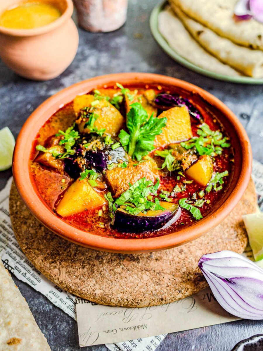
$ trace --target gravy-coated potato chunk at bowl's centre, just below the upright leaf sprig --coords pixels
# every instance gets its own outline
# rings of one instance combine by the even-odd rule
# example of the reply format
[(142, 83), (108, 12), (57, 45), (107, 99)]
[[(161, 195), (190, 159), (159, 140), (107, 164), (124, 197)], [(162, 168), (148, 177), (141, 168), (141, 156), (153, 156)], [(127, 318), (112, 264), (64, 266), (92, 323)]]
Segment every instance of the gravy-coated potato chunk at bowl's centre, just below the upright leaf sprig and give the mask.
[(106, 179), (115, 197), (119, 197), (124, 191), (129, 189), (129, 183), (134, 184), (135, 181), (145, 177), (146, 180), (152, 180), (155, 183), (159, 178), (159, 171), (153, 159), (146, 160), (137, 166), (132, 164), (126, 168), (114, 168), (106, 171)]

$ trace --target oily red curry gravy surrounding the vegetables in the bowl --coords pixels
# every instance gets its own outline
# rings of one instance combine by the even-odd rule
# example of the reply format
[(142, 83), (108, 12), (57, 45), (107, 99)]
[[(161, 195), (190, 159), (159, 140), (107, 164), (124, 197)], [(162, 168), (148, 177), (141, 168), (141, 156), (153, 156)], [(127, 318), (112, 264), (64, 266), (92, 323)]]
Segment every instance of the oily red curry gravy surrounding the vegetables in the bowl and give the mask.
[[(137, 92), (137, 95), (143, 94), (145, 90), (147, 90), (148, 86), (140, 87)], [(153, 87), (154, 93), (157, 95), (160, 92), (170, 93), (165, 88), (162, 87)], [(134, 92), (135, 87), (129, 87), (130, 93)], [(113, 93), (120, 94), (120, 89), (116, 86), (113, 89), (109, 89), (109, 95), (112, 96)], [(94, 94), (91, 92), (90, 94)], [(103, 89), (103, 94), (107, 94), (107, 89)], [(121, 95), (121, 94), (120, 94)], [(212, 113), (209, 107), (198, 100), (196, 102), (194, 97), (184, 96), (182, 92), (180, 92), (180, 96), (188, 98), (190, 103), (193, 104), (195, 108), (200, 112), (202, 116), (202, 123), (205, 123), (209, 126), (210, 130), (216, 131), (220, 130), (223, 133), (224, 137), (227, 137), (227, 132), (224, 130), (223, 126), (217, 120), (217, 116)], [(126, 117), (126, 109), (125, 109), (125, 97), (123, 96), (122, 103), (119, 106), (120, 112), (123, 117)], [(155, 105), (156, 106), (156, 105)], [(162, 109), (157, 109), (157, 114), (161, 114)], [(72, 177), (65, 172), (65, 170), (57, 170), (53, 167), (49, 167), (43, 163), (38, 162), (38, 154), (41, 154), (41, 151), (35, 149), (36, 145), (47, 145), (47, 140), (52, 138), (59, 130), (66, 131), (68, 127), (70, 127), (73, 122), (76, 120), (76, 115), (74, 112), (73, 102), (63, 106), (59, 111), (54, 113), (49, 120), (41, 127), (39, 134), (36, 136), (35, 143), (32, 147), (32, 157), (29, 161), (29, 168), (32, 176), (32, 181), (38, 191), (39, 197), (43, 200), (47, 207), (50, 208), (50, 211), (54, 212), (55, 216), (60, 217), (63, 221), (69, 223), (72, 226), (75, 226), (79, 229), (93, 232), (94, 234), (107, 236), (107, 237), (115, 237), (115, 238), (147, 238), (147, 237), (156, 237), (165, 234), (169, 234), (171, 232), (176, 232), (182, 228), (189, 227), (194, 225), (198, 220), (193, 217), (193, 215), (189, 212), (189, 210), (185, 208), (181, 208), (181, 215), (175, 221), (175, 223), (166, 227), (165, 229), (159, 230), (150, 230), (147, 232), (120, 232), (117, 231), (110, 225), (112, 219), (110, 218), (110, 214), (108, 211), (108, 204), (104, 204), (98, 208), (84, 210), (80, 213), (75, 213), (70, 216), (61, 217), (58, 213), (56, 213), (56, 208), (61, 198), (63, 198), (63, 194), (67, 191), (67, 188), (75, 181)], [(191, 118), (191, 130), (193, 133), (193, 137), (199, 137), (197, 131), (199, 129), (200, 124), (193, 122)], [(127, 130), (125, 125), (124, 129)], [(77, 129), (77, 125), (76, 125)], [(118, 137), (115, 137), (118, 141)], [(169, 146), (169, 145), (168, 145)], [(159, 147), (158, 150), (164, 150), (168, 146)], [(158, 168), (161, 168), (162, 163), (164, 161), (163, 158), (156, 156), (155, 151), (149, 153), (149, 157), (152, 157), (156, 162)], [(198, 155), (200, 157), (200, 155)], [(169, 201), (171, 203), (177, 204), (178, 201), (182, 198), (187, 198), (194, 205), (194, 201), (198, 199), (204, 200), (204, 203), (199, 210), (202, 214), (202, 217), (207, 216), (211, 211), (214, 210), (215, 207), (218, 207), (218, 203), (223, 196), (223, 193), (227, 191), (228, 185), (231, 181), (232, 170), (234, 167), (234, 157), (232, 147), (223, 147), (222, 153), (220, 155), (216, 155), (215, 157), (211, 157), (213, 161), (213, 174), (216, 172), (221, 173), (224, 171), (228, 171), (229, 175), (224, 177), (223, 187), (221, 190), (215, 191), (212, 189), (210, 192), (206, 192), (206, 186), (202, 186), (197, 183), (195, 180), (189, 178), (187, 174), (182, 173), (178, 174), (178, 171), (168, 171), (166, 167), (162, 170), (159, 170), (159, 179), (160, 186), (158, 189), (158, 194), (164, 192), (171, 193), (173, 189), (178, 185), (180, 188), (185, 189), (183, 191), (177, 192), (173, 194), (173, 196), (169, 196)], [(136, 160), (135, 160), (136, 161)], [(134, 162), (135, 162), (134, 161)], [(192, 181), (192, 183), (190, 183)], [(185, 183), (186, 182), (186, 183)], [(189, 182), (189, 183), (188, 183)], [(107, 184), (107, 182), (106, 182)], [(111, 191), (111, 187), (107, 184), (107, 188), (105, 189), (96, 189), (97, 192), (103, 197), (104, 194)], [(200, 198), (198, 194), (204, 191), (204, 196)], [(114, 194), (113, 194), (114, 197)], [(193, 199), (195, 198), (195, 199)], [(115, 199), (114, 199), (115, 200)], [(202, 220), (202, 219), (201, 219)]]

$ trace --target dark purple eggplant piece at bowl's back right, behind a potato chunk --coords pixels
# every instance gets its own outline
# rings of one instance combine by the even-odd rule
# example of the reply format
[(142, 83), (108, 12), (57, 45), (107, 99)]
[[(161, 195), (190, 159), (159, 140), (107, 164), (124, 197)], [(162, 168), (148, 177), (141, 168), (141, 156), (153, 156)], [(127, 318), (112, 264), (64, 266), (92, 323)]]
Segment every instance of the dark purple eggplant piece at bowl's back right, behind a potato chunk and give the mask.
[(158, 94), (154, 100), (154, 104), (163, 110), (167, 110), (168, 108), (175, 106), (186, 106), (190, 116), (195, 122), (202, 123), (204, 121), (200, 111), (198, 111), (188, 99), (182, 98), (179, 95), (167, 93)]

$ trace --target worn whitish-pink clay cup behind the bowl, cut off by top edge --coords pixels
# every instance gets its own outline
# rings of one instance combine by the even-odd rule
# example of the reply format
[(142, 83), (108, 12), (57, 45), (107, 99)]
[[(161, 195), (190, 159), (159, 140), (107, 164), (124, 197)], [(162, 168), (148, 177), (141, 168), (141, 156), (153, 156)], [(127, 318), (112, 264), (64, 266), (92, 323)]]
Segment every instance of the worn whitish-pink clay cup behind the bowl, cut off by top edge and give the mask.
[(112, 32), (127, 18), (128, 0), (73, 0), (79, 25), (89, 32)]

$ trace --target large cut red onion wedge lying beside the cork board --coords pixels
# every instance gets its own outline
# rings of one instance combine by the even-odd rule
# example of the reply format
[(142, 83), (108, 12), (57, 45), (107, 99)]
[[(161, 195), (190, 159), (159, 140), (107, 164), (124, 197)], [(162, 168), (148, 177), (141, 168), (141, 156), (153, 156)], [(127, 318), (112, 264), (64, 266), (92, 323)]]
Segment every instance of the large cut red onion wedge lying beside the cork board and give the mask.
[(263, 270), (232, 251), (203, 255), (198, 267), (217, 302), (234, 316), (263, 319)]

